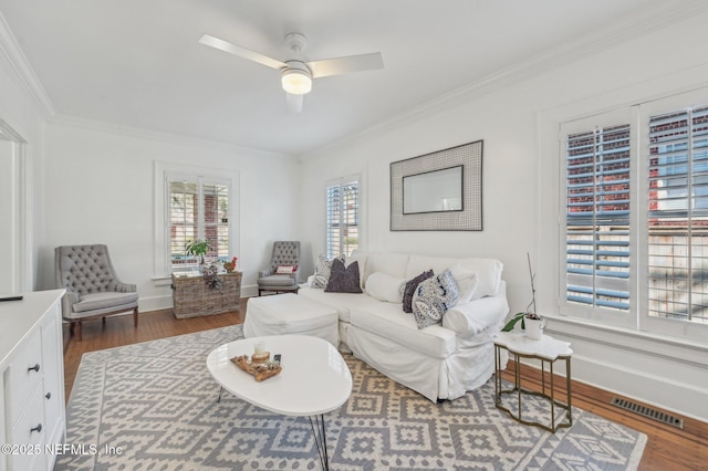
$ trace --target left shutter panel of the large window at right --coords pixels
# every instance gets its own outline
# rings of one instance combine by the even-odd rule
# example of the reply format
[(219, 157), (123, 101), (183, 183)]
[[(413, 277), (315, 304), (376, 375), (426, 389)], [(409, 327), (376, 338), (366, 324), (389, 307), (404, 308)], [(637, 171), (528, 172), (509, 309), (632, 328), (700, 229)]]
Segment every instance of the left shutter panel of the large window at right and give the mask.
[(565, 135), (565, 297), (629, 308), (631, 126)]

